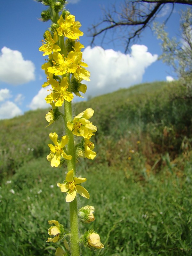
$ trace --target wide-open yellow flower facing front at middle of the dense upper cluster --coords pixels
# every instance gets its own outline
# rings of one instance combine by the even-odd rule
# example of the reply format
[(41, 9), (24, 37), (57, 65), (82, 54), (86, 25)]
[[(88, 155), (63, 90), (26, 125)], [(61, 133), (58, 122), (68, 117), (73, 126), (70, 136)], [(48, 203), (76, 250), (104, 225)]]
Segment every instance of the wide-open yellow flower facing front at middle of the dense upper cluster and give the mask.
[(53, 67), (48, 67), (47, 71), (62, 76), (66, 73), (74, 73), (77, 69), (77, 64), (82, 59), (82, 52), (69, 52), (67, 58), (63, 58), (59, 52), (53, 52)]

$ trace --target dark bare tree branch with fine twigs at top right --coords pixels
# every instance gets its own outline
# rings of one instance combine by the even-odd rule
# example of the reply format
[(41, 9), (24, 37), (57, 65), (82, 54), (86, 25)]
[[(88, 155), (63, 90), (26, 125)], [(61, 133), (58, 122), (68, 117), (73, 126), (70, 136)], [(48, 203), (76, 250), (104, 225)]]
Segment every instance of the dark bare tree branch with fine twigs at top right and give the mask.
[(127, 52), (131, 41), (139, 38), (146, 27), (151, 28), (152, 21), (157, 18), (165, 4), (172, 4), (172, 9), (164, 21), (166, 23), (175, 4), (192, 5), (192, 0), (125, 0), (120, 11), (117, 11), (116, 6), (113, 5), (108, 12), (103, 10), (103, 19), (89, 28), (91, 45), (94, 44), (97, 36), (103, 34), (103, 42), (109, 30), (117, 29), (122, 33), (121, 38), (125, 39), (125, 52)]

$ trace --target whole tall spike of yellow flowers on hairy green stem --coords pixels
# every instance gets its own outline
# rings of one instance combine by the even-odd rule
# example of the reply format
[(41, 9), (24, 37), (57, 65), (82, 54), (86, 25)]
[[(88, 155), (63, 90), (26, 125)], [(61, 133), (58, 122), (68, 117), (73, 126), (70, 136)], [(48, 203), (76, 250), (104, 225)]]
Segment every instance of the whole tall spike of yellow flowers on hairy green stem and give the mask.
[[(76, 158), (86, 157), (94, 159), (96, 152), (94, 151), (94, 143), (90, 140), (97, 127), (89, 121), (93, 116), (94, 110), (87, 108), (77, 116), (72, 116), (71, 101), (74, 95), (82, 97), (81, 93), (85, 93), (87, 86), (82, 83), (83, 80), (90, 81), (90, 72), (86, 69), (88, 65), (83, 60), (81, 50), (84, 45), (79, 42), (79, 37), (83, 36), (80, 30), (81, 24), (75, 20), (75, 16), (71, 15), (64, 9), (65, 0), (38, 0), (45, 5), (49, 5), (47, 11), (42, 12), (43, 21), (52, 20), (52, 25), (49, 30), (45, 31), (42, 46), (39, 48), (43, 52), (43, 56), (47, 56), (46, 62), (42, 65), (47, 80), (42, 85), (47, 88), (46, 102), (51, 105), (50, 111), (45, 118), (50, 126), (58, 121), (61, 117), (65, 124), (65, 133), (59, 138), (56, 132), (49, 133), (49, 138), (53, 144), (48, 144), (50, 153), (47, 155), (47, 160), (52, 167), (61, 167), (62, 164), (67, 164), (68, 172), (63, 183), (57, 183), (61, 192), (66, 193), (66, 202), (70, 205), (76, 205), (77, 194), (89, 199), (89, 192), (81, 186), (86, 178), (76, 177)], [(59, 13), (62, 11), (61, 15)], [(64, 106), (64, 109), (61, 107)], [(81, 141), (75, 145), (74, 136), (82, 137)], [(78, 218), (83, 223), (90, 223), (95, 220), (93, 206), (83, 206), (77, 211), (71, 211), (70, 220), (77, 221), (76, 225), (70, 228), (69, 234), (66, 233), (62, 224), (57, 220), (49, 220), (51, 226), (48, 229), (50, 237), (47, 242), (64, 242), (64, 251), (58, 247), (55, 255), (73, 255), (70, 246), (66, 240), (69, 236), (73, 251), (78, 251), (79, 241), (84, 246), (90, 248), (103, 248), (100, 242), (100, 237), (93, 230), (85, 232), (84, 236), (78, 239), (75, 237), (75, 232), (78, 235), (78, 220), (74, 217), (74, 212), (78, 212)], [(75, 249), (74, 249), (75, 248)], [(77, 249), (76, 249), (77, 248)], [(75, 254), (77, 255), (77, 253)]]

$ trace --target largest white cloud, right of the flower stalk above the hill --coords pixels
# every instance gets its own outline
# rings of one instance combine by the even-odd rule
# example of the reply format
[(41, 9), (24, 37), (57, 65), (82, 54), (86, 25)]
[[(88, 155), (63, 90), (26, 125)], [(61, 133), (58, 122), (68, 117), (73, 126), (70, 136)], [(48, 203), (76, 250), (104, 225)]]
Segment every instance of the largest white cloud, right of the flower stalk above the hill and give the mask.
[(99, 46), (86, 47), (83, 52), (91, 82), (87, 84), (87, 96), (96, 96), (128, 88), (142, 82), (145, 69), (157, 60), (158, 55), (148, 52), (145, 45), (134, 44), (130, 54), (104, 50)]

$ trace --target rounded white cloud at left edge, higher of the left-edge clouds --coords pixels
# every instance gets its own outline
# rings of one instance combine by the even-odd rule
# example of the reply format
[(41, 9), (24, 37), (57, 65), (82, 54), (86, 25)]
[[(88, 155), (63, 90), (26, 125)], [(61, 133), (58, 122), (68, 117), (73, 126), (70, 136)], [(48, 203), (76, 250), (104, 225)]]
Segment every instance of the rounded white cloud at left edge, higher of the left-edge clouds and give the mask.
[(7, 47), (1, 49), (0, 81), (7, 84), (25, 84), (35, 80), (35, 65), (30, 60), (24, 60), (21, 52)]

